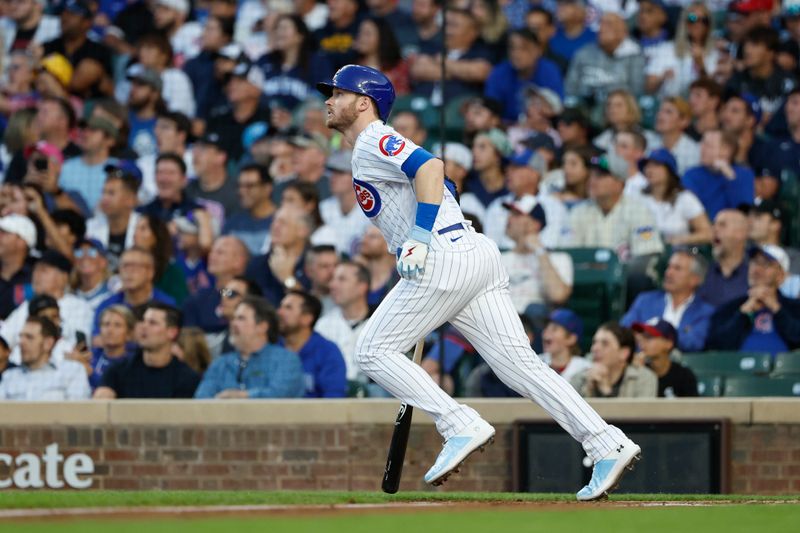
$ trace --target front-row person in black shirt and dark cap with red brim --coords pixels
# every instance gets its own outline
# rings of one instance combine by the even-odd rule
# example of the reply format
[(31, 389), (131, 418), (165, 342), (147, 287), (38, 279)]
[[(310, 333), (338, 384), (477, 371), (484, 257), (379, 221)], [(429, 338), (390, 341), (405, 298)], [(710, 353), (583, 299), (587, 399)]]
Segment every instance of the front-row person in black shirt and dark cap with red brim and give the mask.
[(661, 318), (634, 322), (631, 329), (637, 334), (639, 353), (647, 366), (658, 376), (660, 398), (697, 396), (697, 378), (685, 366), (673, 362), (670, 355), (678, 343), (678, 332)]

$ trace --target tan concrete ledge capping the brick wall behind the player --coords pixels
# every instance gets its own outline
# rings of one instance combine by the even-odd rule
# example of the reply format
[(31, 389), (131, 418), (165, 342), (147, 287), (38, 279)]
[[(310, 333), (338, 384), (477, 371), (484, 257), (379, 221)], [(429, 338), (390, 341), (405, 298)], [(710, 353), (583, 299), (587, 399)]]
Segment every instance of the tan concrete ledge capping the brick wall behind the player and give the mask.
[[(537, 405), (521, 399), (460, 399), (489, 422), (549, 420)], [(800, 399), (725, 398), (675, 400), (592, 400), (610, 420), (728, 418), (737, 424), (798, 423)], [(106, 402), (2, 402), (0, 424), (32, 425), (320, 425), (390, 424), (399, 403), (363, 400), (116, 400)], [(420, 413), (416, 425), (429, 425)]]

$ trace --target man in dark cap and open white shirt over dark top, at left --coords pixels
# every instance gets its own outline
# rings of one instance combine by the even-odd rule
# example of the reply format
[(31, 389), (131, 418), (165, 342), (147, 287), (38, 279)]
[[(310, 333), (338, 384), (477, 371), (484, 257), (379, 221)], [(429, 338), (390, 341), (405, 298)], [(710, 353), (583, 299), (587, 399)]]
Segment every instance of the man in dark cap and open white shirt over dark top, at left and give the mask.
[[(56, 251), (45, 251), (33, 267), (33, 292), (52, 296), (58, 301), (62, 324), (61, 337), (72, 340), (78, 332), (82, 332), (85, 338), (89, 338), (94, 312), (88, 302), (74, 294), (66, 293), (71, 270), (69, 259)], [(28, 311), (28, 302), (21, 303), (0, 327), (0, 336), (12, 349), (11, 361), (14, 363), (19, 363), (19, 350), (15, 348), (20, 332), (28, 319)]]

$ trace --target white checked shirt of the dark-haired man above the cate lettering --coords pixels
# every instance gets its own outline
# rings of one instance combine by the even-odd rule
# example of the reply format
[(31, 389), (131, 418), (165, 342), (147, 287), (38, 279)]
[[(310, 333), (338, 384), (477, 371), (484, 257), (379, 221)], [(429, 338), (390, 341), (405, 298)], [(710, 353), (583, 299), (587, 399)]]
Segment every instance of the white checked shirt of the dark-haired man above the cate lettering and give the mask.
[(10, 368), (0, 381), (3, 400), (86, 400), (90, 395), (86, 369), (75, 361), (48, 361), (35, 370), (24, 365)]

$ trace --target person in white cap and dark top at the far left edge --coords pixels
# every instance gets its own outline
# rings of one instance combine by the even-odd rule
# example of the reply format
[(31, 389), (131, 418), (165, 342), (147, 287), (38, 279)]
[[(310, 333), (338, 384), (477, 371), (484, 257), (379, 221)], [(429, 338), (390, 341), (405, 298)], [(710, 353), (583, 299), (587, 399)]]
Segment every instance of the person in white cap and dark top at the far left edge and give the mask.
[(0, 218), (0, 320), (25, 301), (25, 287), (31, 282), (36, 248), (36, 226), (24, 215)]

